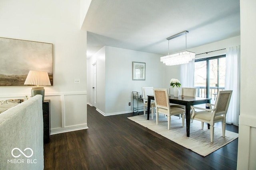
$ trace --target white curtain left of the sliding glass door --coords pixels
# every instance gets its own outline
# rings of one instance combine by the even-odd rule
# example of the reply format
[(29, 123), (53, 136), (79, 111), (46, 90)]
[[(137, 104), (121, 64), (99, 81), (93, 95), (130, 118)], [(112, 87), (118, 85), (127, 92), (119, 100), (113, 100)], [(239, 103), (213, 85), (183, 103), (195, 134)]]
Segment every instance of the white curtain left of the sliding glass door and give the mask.
[(194, 87), (194, 67), (195, 59), (192, 59), (188, 64), (181, 64), (180, 72), (181, 78), (180, 83), (182, 87)]

